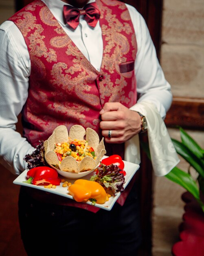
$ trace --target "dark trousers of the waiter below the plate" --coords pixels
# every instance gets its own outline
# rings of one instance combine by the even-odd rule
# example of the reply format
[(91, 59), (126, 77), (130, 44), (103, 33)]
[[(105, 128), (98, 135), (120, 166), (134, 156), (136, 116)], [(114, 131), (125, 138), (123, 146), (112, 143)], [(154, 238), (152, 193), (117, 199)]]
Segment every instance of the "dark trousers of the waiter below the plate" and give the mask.
[(136, 186), (123, 207), (97, 213), (33, 200), (21, 188), (19, 221), (29, 256), (136, 256), (141, 243)]

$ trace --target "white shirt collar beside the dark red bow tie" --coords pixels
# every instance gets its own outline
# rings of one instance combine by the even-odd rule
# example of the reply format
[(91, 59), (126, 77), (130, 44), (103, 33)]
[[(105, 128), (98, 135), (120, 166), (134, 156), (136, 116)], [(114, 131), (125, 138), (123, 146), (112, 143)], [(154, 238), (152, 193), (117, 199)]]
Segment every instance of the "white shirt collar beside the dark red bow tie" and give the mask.
[[(42, 0), (42, 2), (44, 2), (44, 4), (46, 4), (46, 6), (50, 9), (51, 13), (53, 13), (57, 21), (60, 22), (61, 25), (65, 27), (66, 23), (64, 22), (63, 17), (63, 6), (67, 3), (61, 0)], [(95, 2), (95, 0), (88, 1), (88, 3), (92, 2)]]

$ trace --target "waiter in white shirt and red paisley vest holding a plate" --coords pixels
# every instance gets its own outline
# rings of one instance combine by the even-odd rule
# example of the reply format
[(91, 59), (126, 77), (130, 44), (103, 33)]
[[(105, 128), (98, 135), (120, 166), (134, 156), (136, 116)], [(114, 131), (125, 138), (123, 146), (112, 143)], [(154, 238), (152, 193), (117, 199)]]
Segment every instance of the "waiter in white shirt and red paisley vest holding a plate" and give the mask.
[[(61, 103), (59, 103), (60, 107), (57, 105), (57, 97), (60, 102), (64, 97), (64, 94), (59, 93), (60, 90), (57, 91), (57, 88), (63, 88), (61, 87), (63, 83), (59, 85), (59, 80), (61, 78), (64, 79), (64, 77), (67, 78), (68, 74), (74, 74), (75, 71), (73, 71), (73, 67), (76, 67), (75, 64), (79, 57), (81, 60), (79, 64), (85, 71), (87, 67), (87, 73), (89, 73), (87, 75), (88, 79), (86, 84), (88, 89), (86, 89), (84, 95), (87, 98), (91, 97), (91, 103), (85, 99), (86, 108), (84, 108), (83, 113), (77, 112), (77, 115), (79, 115), (79, 119), (77, 120), (83, 119), (81, 124), (84, 124), (84, 126), (90, 125), (94, 127), (95, 125), (96, 130), (101, 130), (101, 136), (105, 138), (106, 142), (107, 155), (121, 153), (124, 157), (124, 143), (132, 139), (144, 128), (141, 126), (140, 115), (138, 112), (134, 111), (134, 106), (136, 106), (137, 103), (145, 101), (153, 103), (162, 118), (165, 118), (166, 111), (171, 105), (171, 87), (166, 81), (158, 63), (156, 51), (145, 21), (134, 7), (114, 0), (98, 0), (96, 2), (99, 6), (97, 8), (100, 14), (103, 14), (103, 12), (108, 13), (109, 9), (113, 12), (120, 10), (118, 17), (115, 18), (113, 13), (106, 14), (106, 18), (101, 15), (100, 22), (96, 21), (94, 27), (88, 25), (83, 15), (79, 16), (79, 24), (76, 25), (76, 28), (72, 28), (71, 23), (69, 24), (65, 21), (65, 16), (63, 15), (65, 3), (81, 9), (87, 3), (91, 4), (93, 2), (95, 3), (94, 0), (35, 1), (32, 6), (29, 5), (27, 9), (24, 9), (25, 13), (21, 13), (20, 19), (17, 16), (13, 16), (12, 19), (4, 22), (0, 26), (0, 55), (2, 58), (0, 62), (0, 159), (2, 164), (16, 175), (19, 175), (26, 169), (26, 162), (23, 158), (26, 154), (31, 153), (35, 149), (35, 142), (38, 138), (43, 136), (46, 138), (46, 136), (48, 136), (46, 132), (48, 132), (49, 128), (51, 131), (55, 128), (53, 124), (56, 124), (56, 126), (59, 125), (57, 117), (54, 117), (55, 114), (52, 112), (54, 109), (56, 111), (61, 109)], [(104, 7), (104, 9), (101, 7)], [(35, 15), (36, 10), (33, 11), (35, 8), (36, 10), (39, 8), (39, 17)], [(125, 13), (126, 8), (128, 12)], [(122, 11), (124, 11), (124, 16), (121, 15)], [(110, 14), (112, 16), (109, 16)], [(54, 18), (52, 18), (51, 15), (53, 15)], [(107, 23), (105, 23), (109, 17), (111, 17), (109, 21), (113, 22), (117, 27), (114, 33), (111, 28), (108, 27)], [(127, 20), (125, 20), (126, 17)], [(130, 17), (130, 19), (128, 17)], [(37, 22), (35, 23), (36, 19)], [(43, 24), (41, 24), (40, 19), (43, 20)], [(77, 20), (77, 18), (75, 18), (75, 20)], [(45, 38), (46, 26), (49, 26), (49, 28), (55, 26), (55, 32), (53, 31), (53, 33), (56, 33), (56, 36), (53, 36), (53, 38), (50, 36), (50, 40)], [(124, 26), (126, 26), (126, 29), (124, 29)], [(31, 34), (32, 29), (36, 29), (33, 34)], [(118, 38), (109, 38), (109, 32), (106, 34), (108, 29), (110, 29), (112, 37), (117, 35)], [(120, 31), (121, 34), (118, 31)], [(59, 63), (59, 57), (63, 59), (64, 56), (60, 56), (63, 47), (61, 41), (60, 45), (57, 46), (59, 43), (59, 41), (57, 41), (57, 33), (61, 36), (61, 40), (63, 39), (64, 42), (66, 42), (64, 44), (68, 47), (66, 51), (66, 57), (69, 58), (68, 60), (70, 62), (73, 61), (72, 55), (70, 54), (72, 47), (75, 49), (72, 54), (75, 55), (75, 52), (78, 54), (73, 61), (75, 64), (73, 64), (72, 69), (67, 69), (71, 70), (69, 71), (70, 73), (66, 73), (67, 76), (62, 76), (62, 73), (60, 73), (62, 66), (59, 64), (62, 63), (62, 61)], [(35, 38), (33, 35), (35, 35)], [(130, 35), (131, 40), (129, 40), (128, 37)], [(107, 40), (103, 40), (104, 38)], [(72, 43), (70, 43), (70, 40)], [(121, 42), (121, 45), (118, 43), (118, 48), (116, 48), (114, 44), (118, 41)], [(108, 45), (109, 42), (111, 43)], [(129, 45), (129, 49), (119, 47), (127, 46), (125, 42)], [(54, 50), (50, 50), (50, 48), (46, 47), (49, 44), (52, 46), (55, 45), (55, 47), (53, 47)], [(44, 51), (43, 53), (42, 49)], [(116, 49), (118, 49), (119, 52), (117, 52)], [(108, 66), (109, 63), (112, 64), (111, 57), (109, 58), (108, 56), (111, 51), (116, 61), (121, 58), (121, 63), (115, 67), (112, 67), (112, 65)], [(83, 56), (80, 55), (80, 52)], [(132, 59), (130, 59), (131, 62), (128, 61), (128, 57), (132, 57), (134, 61), (132, 61)], [(33, 63), (35, 63), (35, 65)], [(52, 63), (52, 66), (49, 67), (51, 71), (49, 70), (50, 73), (48, 74), (47, 66), (50, 65), (50, 63)], [(66, 63), (66, 61), (64, 61), (64, 63)], [(55, 69), (56, 66), (58, 68)], [(118, 72), (119, 68), (121, 74)], [(36, 70), (38, 72), (36, 72)], [(77, 72), (79, 72), (79, 70), (80, 68), (78, 68)], [(112, 80), (114, 79), (112, 76), (113, 73), (117, 73), (118, 76), (115, 80)], [(47, 78), (45, 78), (45, 74), (48, 74)], [(84, 74), (86, 74), (86, 72)], [(49, 90), (46, 87), (42, 89), (40, 80), (46, 82), (48, 79), (50, 83)], [(71, 79), (72, 77), (70, 76), (69, 80), (71, 81)], [(114, 83), (112, 81), (114, 81)], [(112, 83), (113, 86), (111, 87)], [(114, 91), (112, 88), (115, 88), (116, 83), (118, 83), (122, 89)], [(79, 91), (75, 92), (77, 95), (76, 99), (77, 97), (81, 97), (77, 94), (78, 92), (82, 93), (80, 84), (85, 85), (80, 81)], [(68, 85), (71, 86), (71, 83)], [(76, 84), (76, 86), (78, 86), (78, 84)], [(110, 90), (107, 89), (106, 91), (107, 86), (110, 86)], [(129, 86), (129, 88), (127, 88), (127, 86)], [(53, 88), (53, 91), (50, 88)], [(89, 88), (91, 88), (91, 90)], [(67, 88), (65, 90), (67, 90)], [(90, 91), (95, 95), (91, 95)], [(48, 95), (50, 95), (50, 92), (52, 97), (49, 98)], [(56, 96), (54, 95), (55, 92), (57, 92), (57, 97), (52, 102), (53, 97)], [(136, 94), (139, 96), (138, 100), (136, 99)], [(74, 94), (72, 94), (72, 96), (74, 97)], [(35, 99), (37, 100), (37, 104), (42, 103), (42, 107), (39, 106), (39, 108), (41, 108), (41, 110), (45, 109), (46, 113), (40, 112), (38, 116), (38, 111), (41, 110), (37, 109), (37, 106), (35, 106)], [(45, 99), (48, 99), (48, 101)], [(82, 98), (80, 99), (81, 101), (83, 100)], [(94, 103), (94, 100), (96, 100), (96, 103)], [(66, 101), (67, 99), (64, 102)], [(43, 105), (44, 102), (45, 105)], [(63, 104), (65, 104), (64, 102)], [(73, 106), (75, 106), (76, 102), (77, 100), (73, 103)], [(90, 105), (92, 104), (92, 106), (89, 106), (89, 103)], [(81, 103), (81, 105), (79, 104), (79, 106), (82, 106), (82, 104), (83, 103)], [(71, 112), (71, 105), (68, 106), (68, 110)], [(89, 111), (92, 111), (94, 117), (96, 116), (96, 118), (94, 118), (95, 122), (92, 122), (92, 116), (88, 115)], [(24, 138), (15, 131), (15, 124), (20, 112), (23, 113), (24, 117)], [(59, 112), (56, 113), (59, 114)], [(84, 114), (85, 112), (87, 112), (87, 114)], [(86, 119), (84, 119), (84, 115)], [(100, 118), (97, 117), (97, 115), (101, 116), (100, 124), (98, 121)], [(46, 124), (42, 124), (43, 119), (41, 119), (40, 116), (47, 118)], [(46, 118), (44, 118), (44, 120)], [(71, 116), (68, 118), (69, 119), (64, 120), (63, 124), (70, 127), (76, 120), (73, 119), (75, 121), (70, 121)], [(84, 123), (85, 121), (86, 123)], [(109, 150), (109, 147), (111, 150)], [(20, 197), (20, 227), (28, 255), (36, 255), (37, 253), (35, 250), (29, 249), (29, 240), (32, 239), (32, 243), (36, 244), (42, 239), (42, 236), (37, 234), (37, 232), (33, 232), (33, 230), (29, 232), (29, 222), (33, 219), (35, 219), (35, 225), (41, 220), (39, 224), (40, 228), (37, 229), (39, 233), (45, 231), (46, 233), (50, 233), (50, 236), (45, 239), (45, 242), (42, 242), (42, 244), (45, 243), (45, 245), (43, 245), (43, 247), (45, 247), (45, 249), (43, 249), (44, 252), (46, 252), (48, 244), (50, 243), (54, 247), (53, 249), (50, 248), (51, 251), (59, 255), (58, 250), (61, 248), (58, 247), (58, 243), (60, 243), (61, 239), (61, 241), (63, 241), (61, 247), (63, 247), (63, 250), (67, 249), (70, 255), (81, 255), (85, 250), (81, 249), (81, 245), (83, 244), (86, 248), (90, 248), (89, 246), (92, 242), (94, 245), (94, 254), (96, 253), (95, 250), (98, 250), (100, 243), (100, 248), (103, 248), (103, 254), (107, 252), (107, 254), (110, 255), (136, 255), (141, 237), (138, 223), (137, 196), (134, 186), (125, 204), (123, 204), (123, 206), (116, 204), (114, 206), (115, 208), (110, 212), (100, 210), (97, 211), (97, 213), (92, 213), (91, 211), (77, 207), (75, 208), (69, 205), (64, 206), (64, 204), (46, 204), (45, 202), (39, 202), (36, 198), (32, 199), (33, 201), (29, 202), (29, 204), (26, 204), (26, 200), (33, 198), (32, 195), (31, 198), (29, 196), (30, 195), (25, 195), (25, 193), (21, 192)], [(91, 220), (93, 220), (93, 222), (91, 222)], [(31, 238), (32, 232), (33, 237)], [(57, 239), (56, 235), (59, 236), (60, 239)], [(99, 235), (103, 237), (101, 241), (99, 241)], [(47, 234), (45, 236), (47, 236)], [(33, 242), (34, 239), (35, 242)], [(67, 244), (65, 241), (67, 241)], [(89, 249), (89, 252), (92, 249), (93, 248)], [(98, 255), (100, 255), (100, 253), (101, 252), (97, 252)]]

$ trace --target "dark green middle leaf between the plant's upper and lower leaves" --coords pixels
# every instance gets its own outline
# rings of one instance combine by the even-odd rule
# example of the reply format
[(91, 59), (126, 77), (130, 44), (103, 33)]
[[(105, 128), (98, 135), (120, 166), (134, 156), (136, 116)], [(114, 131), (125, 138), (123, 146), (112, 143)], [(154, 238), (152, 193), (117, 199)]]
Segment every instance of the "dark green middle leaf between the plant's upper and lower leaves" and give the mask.
[(204, 164), (189, 148), (176, 139), (171, 139), (176, 152), (181, 155), (204, 178)]

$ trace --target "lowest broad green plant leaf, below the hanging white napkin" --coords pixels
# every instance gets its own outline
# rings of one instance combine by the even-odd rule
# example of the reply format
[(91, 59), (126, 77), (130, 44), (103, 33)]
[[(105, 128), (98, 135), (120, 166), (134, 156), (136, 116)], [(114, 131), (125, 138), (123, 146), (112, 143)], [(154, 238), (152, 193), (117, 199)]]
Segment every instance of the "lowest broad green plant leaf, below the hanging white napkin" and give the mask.
[(189, 173), (180, 170), (178, 167), (174, 167), (165, 177), (182, 186), (196, 199), (200, 199), (199, 188)]

